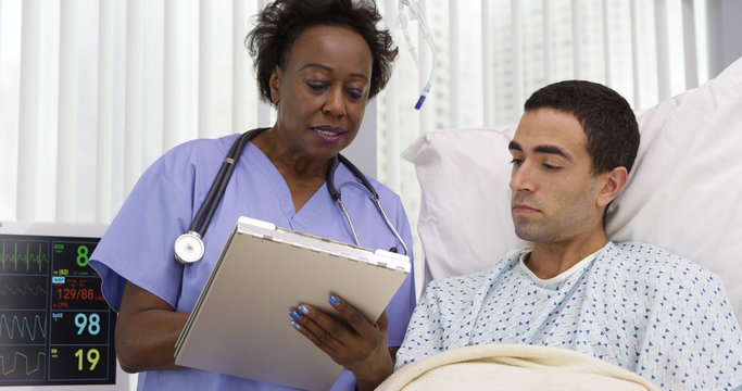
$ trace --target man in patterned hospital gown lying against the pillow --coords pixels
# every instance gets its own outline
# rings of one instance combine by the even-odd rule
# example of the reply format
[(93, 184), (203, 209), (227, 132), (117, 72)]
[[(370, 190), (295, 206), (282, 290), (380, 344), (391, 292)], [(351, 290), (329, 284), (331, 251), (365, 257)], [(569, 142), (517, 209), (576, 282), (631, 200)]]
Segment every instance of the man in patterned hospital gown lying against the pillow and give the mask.
[(532, 247), (489, 270), (432, 281), (397, 366), (523, 343), (587, 353), (667, 390), (741, 384), (742, 333), (719, 278), (659, 248), (606, 237), (606, 207), (638, 147), (634, 114), (612, 89), (571, 80), (535, 92), (510, 143), (513, 223)]

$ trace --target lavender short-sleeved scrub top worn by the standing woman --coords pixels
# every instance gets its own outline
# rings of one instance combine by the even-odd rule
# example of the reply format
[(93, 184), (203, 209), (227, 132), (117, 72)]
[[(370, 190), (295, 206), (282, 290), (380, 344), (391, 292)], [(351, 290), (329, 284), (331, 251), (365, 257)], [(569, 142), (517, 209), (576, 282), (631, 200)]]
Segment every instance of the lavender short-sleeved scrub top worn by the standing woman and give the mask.
[[(176, 263), (175, 239), (188, 230), (236, 138), (237, 135), (231, 135), (186, 142), (164, 154), (141, 176), (91, 256), (91, 266), (103, 279), (103, 294), (114, 310), (118, 310), (124, 283), (129, 280), (161, 298), (175, 311), (190, 313), (238, 216), (353, 243), (348, 220), (325, 186), (294, 212), (291, 193), (281, 175), (260, 149), (248, 143), (203, 238), (203, 260), (188, 266)], [(379, 193), (389, 219), (412, 248), (410, 225), (399, 197), (374, 179), (369, 180)], [(342, 193), (361, 244), (383, 250), (395, 247), (401, 251), (401, 244), (369, 200), (367, 190), (345, 166), (338, 167), (335, 184)], [(387, 307), (390, 346), (402, 343), (415, 305), (413, 281), (410, 274)], [(301, 299), (297, 298), (297, 301)], [(291, 327), (288, 310), (286, 327)], [(334, 389), (350, 390), (354, 383), (352, 374), (343, 371)], [(191, 368), (142, 373), (138, 387), (139, 390), (287, 389)]]

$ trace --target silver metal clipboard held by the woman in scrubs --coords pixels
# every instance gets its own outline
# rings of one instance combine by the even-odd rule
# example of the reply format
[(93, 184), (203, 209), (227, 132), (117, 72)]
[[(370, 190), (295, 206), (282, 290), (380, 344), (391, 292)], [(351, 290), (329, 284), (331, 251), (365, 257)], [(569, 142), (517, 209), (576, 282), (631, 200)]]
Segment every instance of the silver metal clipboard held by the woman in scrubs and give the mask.
[(294, 330), (300, 302), (337, 314), (337, 293), (369, 321), (410, 273), (406, 255), (370, 251), (239, 217), (175, 344), (175, 363), (307, 390), (342, 371)]

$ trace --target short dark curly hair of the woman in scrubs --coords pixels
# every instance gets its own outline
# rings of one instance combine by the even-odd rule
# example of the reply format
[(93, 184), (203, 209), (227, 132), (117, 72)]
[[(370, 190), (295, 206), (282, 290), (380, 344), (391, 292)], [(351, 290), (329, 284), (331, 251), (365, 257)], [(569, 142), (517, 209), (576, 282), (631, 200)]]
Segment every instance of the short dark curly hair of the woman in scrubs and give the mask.
[(286, 56), (306, 28), (317, 25), (349, 28), (363, 37), (370, 49), (372, 65), (368, 99), (383, 89), (391, 77), (398, 49), (391, 34), (378, 29), (381, 15), (373, 0), (275, 0), (256, 16), (255, 27), (244, 45), (253, 58), (262, 98), (272, 104), (271, 75), (276, 65), (286, 70)]

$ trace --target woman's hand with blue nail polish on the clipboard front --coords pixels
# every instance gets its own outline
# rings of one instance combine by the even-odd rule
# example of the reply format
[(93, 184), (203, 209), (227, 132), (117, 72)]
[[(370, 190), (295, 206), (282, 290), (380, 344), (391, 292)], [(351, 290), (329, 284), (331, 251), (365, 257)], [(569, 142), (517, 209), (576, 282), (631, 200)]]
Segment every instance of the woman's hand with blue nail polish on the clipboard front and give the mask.
[(332, 295), (329, 302), (348, 326), (309, 304), (291, 311), (291, 325), (332, 361), (352, 371), (359, 390), (375, 389), (394, 369), (387, 341), (387, 313), (372, 325), (342, 298)]

